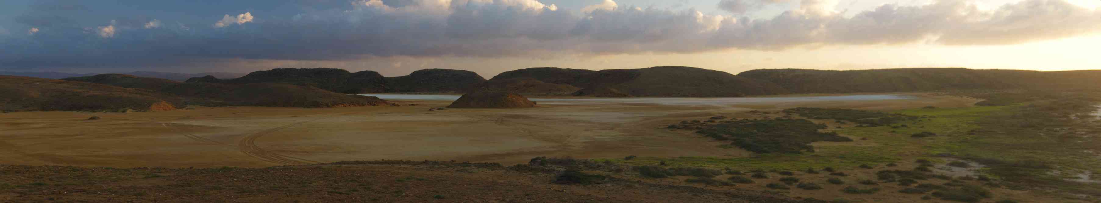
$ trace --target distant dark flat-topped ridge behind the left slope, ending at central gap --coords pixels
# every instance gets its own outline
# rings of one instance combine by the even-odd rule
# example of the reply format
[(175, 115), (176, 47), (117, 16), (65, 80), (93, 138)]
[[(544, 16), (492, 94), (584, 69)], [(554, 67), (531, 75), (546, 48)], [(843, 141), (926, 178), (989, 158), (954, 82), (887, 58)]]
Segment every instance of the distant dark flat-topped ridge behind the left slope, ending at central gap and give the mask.
[(459, 70), (421, 70), (405, 76), (383, 77), (378, 72), (350, 73), (338, 68), (274, 68), (226, 79), (222, 83), (285, 83), (337, 93), (461, 93), (486, 82), (478, 74)]

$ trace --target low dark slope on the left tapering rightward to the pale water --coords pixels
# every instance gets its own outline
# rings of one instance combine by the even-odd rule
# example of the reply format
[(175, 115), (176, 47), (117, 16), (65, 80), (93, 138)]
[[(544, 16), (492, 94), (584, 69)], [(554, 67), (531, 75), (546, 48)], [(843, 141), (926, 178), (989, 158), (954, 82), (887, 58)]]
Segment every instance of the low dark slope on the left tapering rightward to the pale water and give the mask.
[(378, 97), (346, 95), (290, 84), (249, 83), (179, 83), (170, 79), (138, 77), (123, 74), (100, 74), (65, 81), (146, 89), (183, 97), (187, 104), (209, 106), (275, 106), (275, 107), (347, 107), (379, 106), (386, 101)]

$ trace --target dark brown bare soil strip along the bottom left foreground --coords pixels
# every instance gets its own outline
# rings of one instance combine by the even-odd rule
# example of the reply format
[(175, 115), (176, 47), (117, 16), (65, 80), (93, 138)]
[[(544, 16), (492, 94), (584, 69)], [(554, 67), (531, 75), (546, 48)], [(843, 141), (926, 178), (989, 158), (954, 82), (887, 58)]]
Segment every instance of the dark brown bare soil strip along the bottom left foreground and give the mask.
[(495, 163), (360, 161), (272, 168), (0, 165), (0, 202), (810, 202), (644, 181), (554, 184)]

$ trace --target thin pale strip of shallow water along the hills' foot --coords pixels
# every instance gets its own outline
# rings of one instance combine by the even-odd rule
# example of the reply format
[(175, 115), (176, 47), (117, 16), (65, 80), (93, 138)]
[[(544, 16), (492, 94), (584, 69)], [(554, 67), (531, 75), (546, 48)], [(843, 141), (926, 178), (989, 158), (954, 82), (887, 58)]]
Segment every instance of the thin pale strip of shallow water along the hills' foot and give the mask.
[[(388, 100), (455, 100), (459, 95), (401, 95), (359, 94)], [(676, 106), (731, 105), (749, 103), (798, 103), (798, 101), (846, 101), (846, 100), (893, 100), (914, 99), (908, 95), (844, 95), (844, 96), (794, 96), (794, 97), (631, 97), (631, 98), (531, 98), (539, 104), (657, 104)]]

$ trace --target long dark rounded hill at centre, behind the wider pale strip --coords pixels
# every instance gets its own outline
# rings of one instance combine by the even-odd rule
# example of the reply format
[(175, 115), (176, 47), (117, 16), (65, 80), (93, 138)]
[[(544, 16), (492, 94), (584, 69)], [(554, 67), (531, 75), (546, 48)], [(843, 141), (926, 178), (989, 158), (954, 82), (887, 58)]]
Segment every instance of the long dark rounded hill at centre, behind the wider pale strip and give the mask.
[(490, 83), (505, 79), (535, 79), (546, 84), (569, 85), (580, 89), (574, 93), (577, 96), (737, 97), (787, 93), (768, 82), (685, 66), (603, 71), (534, 67), (504, 72), (491, 78)]

